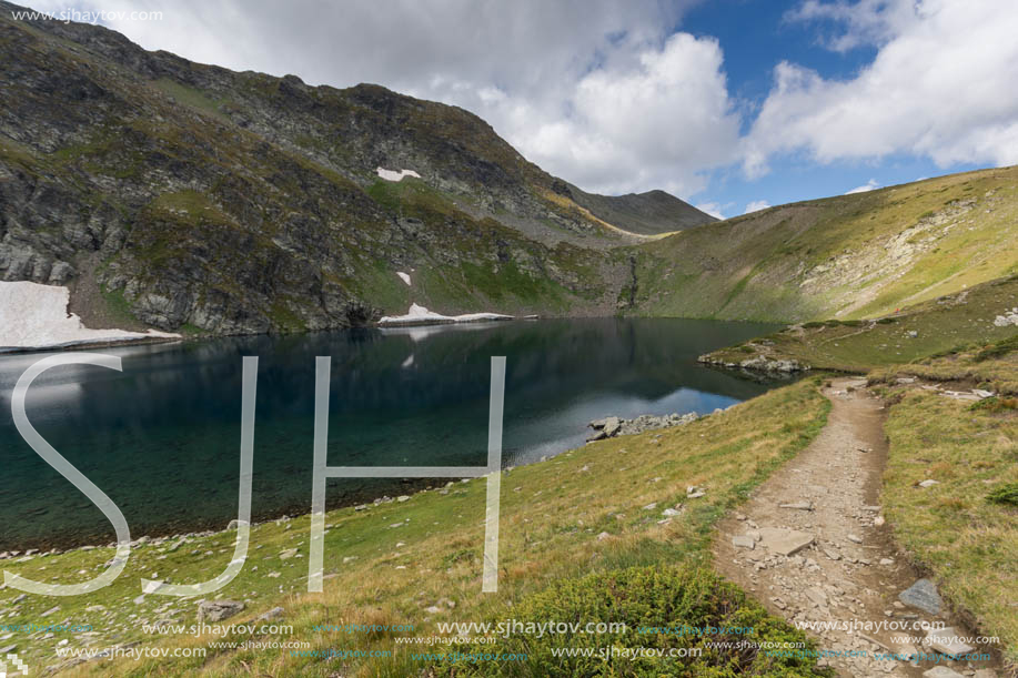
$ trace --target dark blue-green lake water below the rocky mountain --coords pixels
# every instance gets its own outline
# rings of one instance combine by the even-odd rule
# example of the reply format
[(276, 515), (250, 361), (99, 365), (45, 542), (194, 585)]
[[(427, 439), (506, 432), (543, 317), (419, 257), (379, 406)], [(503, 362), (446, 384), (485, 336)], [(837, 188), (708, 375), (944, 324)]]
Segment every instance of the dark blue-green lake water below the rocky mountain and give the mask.
[[(332, 356), (329, 464), (483, 466), (491, 356), (506, 356), (503, 465), (583, 444), (587, 422), (708, 413), (770, 385), (697, 355), (774, 330), (666, 318), (552, 320), (98, 351), (123, 372), (62, 366), (36, 380), (37, 431), (120, 506), (132, 537), (224, 527), (236, 515), (241, 362), (259, 356), (255, 519), (311, 505), (314, 357)], [(112, 542), (103, 515), (11, 419), (18, 377), (44, 354), (0, 357), (0, 550)], [(329, 480), (329, 505), (436, 480)]]

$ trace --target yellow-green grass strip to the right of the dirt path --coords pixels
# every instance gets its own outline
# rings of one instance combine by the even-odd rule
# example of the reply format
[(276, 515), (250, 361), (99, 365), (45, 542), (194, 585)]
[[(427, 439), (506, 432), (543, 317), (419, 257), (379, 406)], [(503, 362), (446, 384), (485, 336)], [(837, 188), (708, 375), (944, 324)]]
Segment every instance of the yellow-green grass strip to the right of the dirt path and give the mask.
[[(1018, 342), (870, 381), (890, 403), (884, 504), (895, 536), (1018, 667)], [(1001, 395), (959, 401), (923, 388), (930, 383)], [(925, 479), (937, 485), (917, 487)]]

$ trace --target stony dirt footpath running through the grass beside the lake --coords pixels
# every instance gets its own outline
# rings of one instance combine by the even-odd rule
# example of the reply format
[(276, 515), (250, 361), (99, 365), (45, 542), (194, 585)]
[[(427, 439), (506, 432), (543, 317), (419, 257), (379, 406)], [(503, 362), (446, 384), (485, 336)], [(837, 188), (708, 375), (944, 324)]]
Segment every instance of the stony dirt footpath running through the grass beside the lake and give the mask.
[[(923, 638), (926, 631), (886, 628), (891, 621), (927, 620), (957, 629), (937, 633), (943, 642), (974, 634), (949, 616), (933, 585), (923, 580), (914, 586), (920, 575), (884, 524), (884, 407), (864, 386), (864, 380), (840, 378), (825, 389), (833, 403), (827, 426), (740, 513), (719, 524), (716, 567), (774, 614), (794, 623), (833, 623), (807, 633), (818, 639), (818, 649), (841, 655), (820, 660), (840, 676), (991, 678), (997, 674), (984, 662), (949, 661), (933, 668), (933, 662), (876, 657), (938, 651), (903, 638)], [(906, 589), (910, 605), (899, 598)]]

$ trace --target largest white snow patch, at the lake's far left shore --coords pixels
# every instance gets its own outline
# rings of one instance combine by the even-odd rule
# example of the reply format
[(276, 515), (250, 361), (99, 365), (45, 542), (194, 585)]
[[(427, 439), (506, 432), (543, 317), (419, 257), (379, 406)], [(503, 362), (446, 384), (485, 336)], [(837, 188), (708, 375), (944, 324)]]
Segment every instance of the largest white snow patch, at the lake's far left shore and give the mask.
[(179, 334), (149, 330), (89, 330), (77, 315), (68, 314), (67, 287), (29, 282), (0, 282), (0, 348), (47, 348), (121, 342)]

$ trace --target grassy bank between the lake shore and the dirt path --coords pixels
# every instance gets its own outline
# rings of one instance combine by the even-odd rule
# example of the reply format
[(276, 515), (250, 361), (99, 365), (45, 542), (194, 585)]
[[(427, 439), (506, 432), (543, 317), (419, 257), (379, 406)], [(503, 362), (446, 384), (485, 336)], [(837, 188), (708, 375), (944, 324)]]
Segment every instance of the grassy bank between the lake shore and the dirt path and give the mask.
[[(281, 606), (284, 611), (274, 621), (292, 625), (293, 634), (233, 635), (225, 640), (308, 640), (309, 650), (390, 652), (384, 657), (325, 659), (291, 656), (285, 649), (226, 650), (210, 648), (211, 641), (224, 640), (210, 634), (145, 634), (142, 625), (158, 620), (193, 624), (198, 600), (139, 597), (139, 578), (204, 580), (229, 561), (232, 532), (139, 546), (124, 574), (92, 595), (57, 601), (30, 596), (14, 603), (17, 591), (0, 591), (0, 606), (12, 611), (8, 623), (93, 625), (93, 633), (88, 635), (64, 633), (50, 639), (42, 639), (41, 634), (34, 638), (19, 635), (10, 642), (17, 644), (18, 651), (34, 666), (57, 664), (53, 645), (64, 639), (65, 647), (72, 648), (141, 642), (145, 648), (208, 649), (204, 658), (140, 662), (99, 659), (75, 669), (90, 675), (109, 675), (110, 661), (115, 662), (112, 670), (119, 675), (135, 676), (177, 676), (199, 669), (213, 676), (248, 671), (273, 676), (332, 676), (336, 671), (413, 675), (424, 662), (414, 660), (412, 651), (429, 648), (397, 644), (396, 637), (437, 635), (436, 621), (513, 617), (514, 605), (554, 583), (591, 573), (663, 563), (687, 567), (708, 564), (706, 546), (713, 523), (823, 427), (829, 404), (816, 386), (816, 380), (803, 381), (687, 426), (613, 438), (504, 472), (497, 595), (480, 593), (483, 480), (456, 482), (441, 492), (421, 493), (406, 502), (383, 503), (366, 510), (329, 513), (324, 594), (304, 593), (306, 516), (254, 526), (243, 571), (220, 591), (222, 597), (243, 600), (248, 606), (228, 623), (253, 621)], [(688, 485), (705, 487), (707, 495), (686, 499)], [(677, 514), (663, 516), (666, 508), (677, 508)], [(296, 551), (286, 555), (288, 549)], [(33, 578), (73, 583), (91, 577), (111, 553), (108, 548), (79, 549), (27, 561), (8, 560), (4, 568)], [(747, 615), (759, 615), (757, 607), (746, 605)], [(53, 606), (59, 610), (41, 617)], [(433, 607), (437, 611), (429, 609)], [(321, 628), (350, 623), (413, 625), (414, 630), (347, 634)], [(782, 634), (792, 633), (776, 624), (769, 620), (765, 626), (775, 633), (778, 628), (784, 629)], [(576, 640), (579, 645), (583, 639)], [(815, 675), (805, 666), (797, 670), (788, 675)]]

